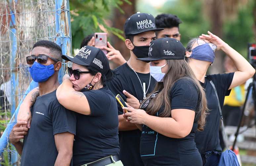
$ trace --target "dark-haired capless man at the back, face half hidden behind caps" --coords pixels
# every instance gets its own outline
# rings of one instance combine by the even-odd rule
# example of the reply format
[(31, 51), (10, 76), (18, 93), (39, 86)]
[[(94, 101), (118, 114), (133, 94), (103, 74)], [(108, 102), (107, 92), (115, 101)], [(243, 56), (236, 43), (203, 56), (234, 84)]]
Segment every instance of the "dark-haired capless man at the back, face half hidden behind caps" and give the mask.
[(181, 40), (180, 25), (181, 20), (172, 14), (159, 14), (155, 17), (155, 24), (157, 28), (164, 28), (164, 30), (157, 32), (156, 37), (158, 38), (174, 38), (178, 41)]

